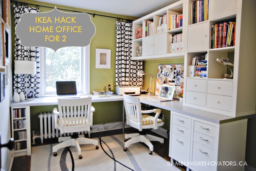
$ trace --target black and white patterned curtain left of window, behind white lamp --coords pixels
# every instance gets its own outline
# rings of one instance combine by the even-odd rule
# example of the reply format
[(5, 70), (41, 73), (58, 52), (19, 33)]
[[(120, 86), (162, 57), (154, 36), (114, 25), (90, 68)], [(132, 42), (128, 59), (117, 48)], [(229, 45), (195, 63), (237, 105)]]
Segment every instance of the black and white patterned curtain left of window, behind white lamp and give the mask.
[[(18, 6), (14, 5), (15, 26), (20, 21), (21, 15), (26, 12), (38, 13), (39, 7), (28, 7), (25, 3)], [(24, 47), (21, 45), (20, 39), (15, 34), (15, 60), (29, 60), (36, 61), (36, 75), (14, 74), (14, 91), (20, 93), (24, 92), (26, 96), (25, 79), (27, 80), (27, 87), (35, 90), (35, 97), (39, 97), (40, 93), (40, 48), (39, 47)]]

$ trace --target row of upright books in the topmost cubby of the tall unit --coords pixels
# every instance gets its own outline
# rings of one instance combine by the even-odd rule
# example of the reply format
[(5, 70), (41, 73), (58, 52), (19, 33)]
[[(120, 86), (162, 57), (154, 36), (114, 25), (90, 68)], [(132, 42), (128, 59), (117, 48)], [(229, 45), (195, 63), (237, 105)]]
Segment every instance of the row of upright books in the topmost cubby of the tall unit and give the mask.
[(208, 20), (209, 0), (198, 0), (196, 2), (189, 1), (189, 8), (190, 24)]

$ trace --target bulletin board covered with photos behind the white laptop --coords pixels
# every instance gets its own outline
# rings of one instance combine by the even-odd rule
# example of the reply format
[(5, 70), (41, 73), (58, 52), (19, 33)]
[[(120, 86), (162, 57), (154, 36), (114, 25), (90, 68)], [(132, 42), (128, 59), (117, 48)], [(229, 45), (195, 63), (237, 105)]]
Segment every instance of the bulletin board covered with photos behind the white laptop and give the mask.
[(159, 94), (161, 85), (167, 84), (175, 86), (174, 99), (183, 97), (183, 73), (183, 64), (158, 65), (155, 95)]

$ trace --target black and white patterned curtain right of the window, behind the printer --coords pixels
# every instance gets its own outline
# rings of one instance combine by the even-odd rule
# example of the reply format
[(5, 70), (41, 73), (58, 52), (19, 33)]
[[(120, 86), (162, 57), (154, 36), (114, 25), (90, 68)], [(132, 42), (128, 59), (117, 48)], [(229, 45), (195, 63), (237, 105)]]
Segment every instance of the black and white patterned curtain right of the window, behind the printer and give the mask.
[(143, 61), (131, 60), (132, 23), (116, 21), (116, 86), (143, 86)]

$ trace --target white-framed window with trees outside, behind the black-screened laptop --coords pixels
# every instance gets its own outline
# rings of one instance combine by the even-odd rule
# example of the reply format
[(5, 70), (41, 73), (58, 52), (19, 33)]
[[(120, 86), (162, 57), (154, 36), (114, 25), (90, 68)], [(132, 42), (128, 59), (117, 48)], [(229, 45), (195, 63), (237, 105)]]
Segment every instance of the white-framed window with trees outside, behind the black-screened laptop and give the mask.
[(76, 81), (78, 93), (90, 93), (90, 46), (41, 48), (41, 95), (56, 94), (56, 81)]

